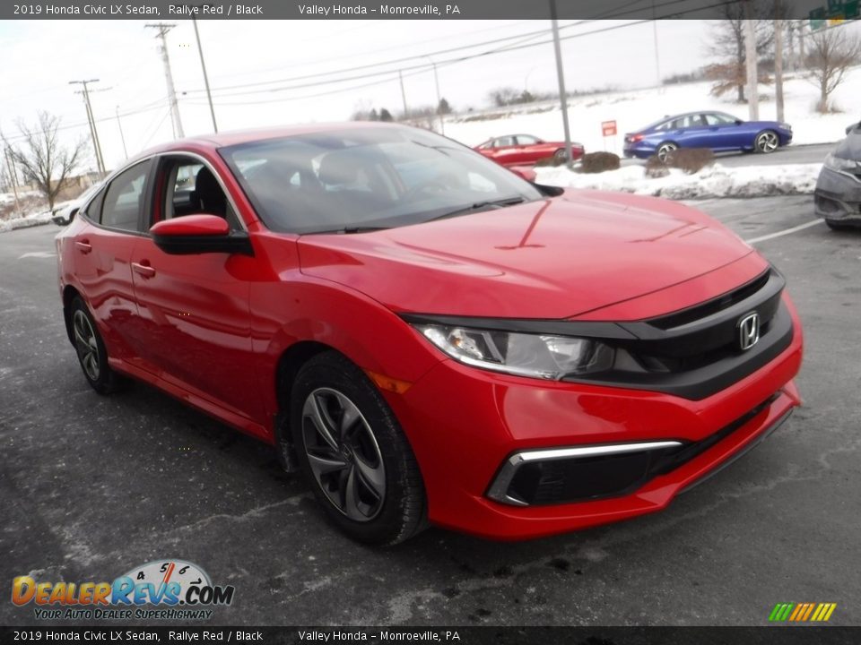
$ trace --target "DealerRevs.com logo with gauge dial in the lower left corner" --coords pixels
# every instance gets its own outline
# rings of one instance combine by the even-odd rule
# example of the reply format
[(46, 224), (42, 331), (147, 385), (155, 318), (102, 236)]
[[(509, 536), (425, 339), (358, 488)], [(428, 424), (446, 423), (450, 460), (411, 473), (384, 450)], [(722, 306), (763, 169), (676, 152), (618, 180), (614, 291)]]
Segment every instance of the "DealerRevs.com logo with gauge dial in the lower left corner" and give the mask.
[(230, 605), (235, 589), (213, 585), (199, 566), (157, 560), (135, 567), (113, 582), (51, 582), (18, 576), (12, 602), (33, 605), (38, 620), (205, 620), (213, 606)]

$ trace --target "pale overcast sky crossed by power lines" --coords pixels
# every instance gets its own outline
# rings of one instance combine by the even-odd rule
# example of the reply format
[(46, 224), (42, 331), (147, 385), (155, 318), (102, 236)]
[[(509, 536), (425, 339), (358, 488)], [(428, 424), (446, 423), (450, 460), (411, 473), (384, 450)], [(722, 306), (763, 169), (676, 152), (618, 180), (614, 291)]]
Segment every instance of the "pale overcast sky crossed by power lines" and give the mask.
[[(192, 22), (172, 22), (168, 52), (184, 132), (211, 133)], [(15, 142), (18, 121), (35, 124), (39, 110), (47, 110), (62, 119), (65, 142), (89, 139), (83, 97), (75, 93), (81, 86), (69, 83), (99, 79), (91, 84), (91, 105), (109, 169), (126, 154), (173, 139), (160, 40), (146, 24), (0, 21), (0, 130)], [(543, 42), (550, 39), (547, 21), (197, 24), (221, 131), (344, 121), (371, 107), (397, 113), (404, 96), (408, 107), (433, 106), (432, 64), (440, 95), (456, 110), (489, 107), (489, 92), (500, 87), (557, 88), (552, 44)], [(565, 83), (575, 91), (654, 86), (658, 69), (661, 77), (691, 72), (709, 62), (714, 25), (561, 21), (560, 27)], [(520, 48), (498, 51), (512, 46)], [(474, 57), (457, 60), (465, 56)], [(84, 164), (91, 168), (92, 154)]]

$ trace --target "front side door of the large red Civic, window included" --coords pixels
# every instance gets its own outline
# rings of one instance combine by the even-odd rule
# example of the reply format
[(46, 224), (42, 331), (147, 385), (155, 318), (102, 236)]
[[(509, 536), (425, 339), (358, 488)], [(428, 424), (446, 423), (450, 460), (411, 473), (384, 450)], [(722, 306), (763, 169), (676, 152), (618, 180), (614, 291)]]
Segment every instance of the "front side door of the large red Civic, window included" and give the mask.
[[(234, 230), (245, 228), (209, 161), (166, 155), (153, 176), (148, 226), (205, 212), (227, 219)], [(149, 234), (135, 245), (131, 262), (141, 351), (165, 381), (246, 427), (242, 419), (263, 419), (248, 309), (254, 262), (239, 254), (166, 254)]]

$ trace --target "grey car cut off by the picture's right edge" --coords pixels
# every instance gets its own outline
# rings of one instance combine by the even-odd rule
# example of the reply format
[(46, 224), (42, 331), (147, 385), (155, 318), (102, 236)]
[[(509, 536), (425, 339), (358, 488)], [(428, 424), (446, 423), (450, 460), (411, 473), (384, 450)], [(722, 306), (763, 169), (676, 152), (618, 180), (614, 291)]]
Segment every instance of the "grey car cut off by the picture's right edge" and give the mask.
[(846, 139), (825, 158), (813, 203), (829, 227), (861, 227), (861, 123), (849, 125)]

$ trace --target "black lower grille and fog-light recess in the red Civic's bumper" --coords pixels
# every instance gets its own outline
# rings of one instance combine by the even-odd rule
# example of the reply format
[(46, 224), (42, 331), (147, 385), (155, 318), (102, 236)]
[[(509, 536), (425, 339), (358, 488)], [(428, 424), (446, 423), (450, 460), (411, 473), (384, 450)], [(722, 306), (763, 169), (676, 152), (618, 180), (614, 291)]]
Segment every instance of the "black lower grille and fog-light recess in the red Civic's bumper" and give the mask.
[[(542, 506), (630, 495), (654, 477), (678, 469), (735, 434), (777, 398), (776, 393), (698, 442), (665, 442), (674, 445), (657, 448), (649, 448), (655, 444), (644, 443), (641, 451), (569, 459), (518, 462), (509, 458), (494, 478), (488, 496), (502, 503)], [(612, 450), (613, 446), (606, 448)]]

